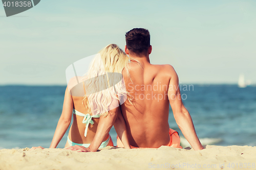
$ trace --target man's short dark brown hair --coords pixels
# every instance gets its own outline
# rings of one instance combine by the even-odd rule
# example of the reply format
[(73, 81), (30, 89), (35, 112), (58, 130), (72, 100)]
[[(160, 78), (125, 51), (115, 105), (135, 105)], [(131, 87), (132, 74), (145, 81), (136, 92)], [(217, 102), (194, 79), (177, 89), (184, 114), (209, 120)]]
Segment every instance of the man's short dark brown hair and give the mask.
[(135, 28), (125, 34), (126, 46), (134, 53), (142, 53), (150, 47), (150, 32), (143, 28)]

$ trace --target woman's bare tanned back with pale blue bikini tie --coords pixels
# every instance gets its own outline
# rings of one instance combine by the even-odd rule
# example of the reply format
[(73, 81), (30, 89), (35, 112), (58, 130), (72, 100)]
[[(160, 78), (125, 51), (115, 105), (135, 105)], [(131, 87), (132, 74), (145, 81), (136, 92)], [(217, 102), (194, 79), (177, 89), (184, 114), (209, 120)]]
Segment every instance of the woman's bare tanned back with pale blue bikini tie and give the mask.
[[(77, 84), (77, 81), (80, 82)], [(86, 96), (86, 89), (84, 88), (84, 82), (86, 78), (76, 77), (69, 82), (68, 88), (70, 88), (70, 98), (73, 102), (73, 124), (69, 131), (69, 141), (67, 141), (65, 147), (69, 147), (71, 142), (74, 143), (91, 143), (99, 123), (99, 115), (92, 115), (90, 108), (84, 100)], [(89, 114), (89, 115), (88, 115)], [(88, 128), (87, 128), (88, 127)], [(109, 135), (105, 137), (107, 140)], [(112, 139), (110, 145), (113, 145)]]

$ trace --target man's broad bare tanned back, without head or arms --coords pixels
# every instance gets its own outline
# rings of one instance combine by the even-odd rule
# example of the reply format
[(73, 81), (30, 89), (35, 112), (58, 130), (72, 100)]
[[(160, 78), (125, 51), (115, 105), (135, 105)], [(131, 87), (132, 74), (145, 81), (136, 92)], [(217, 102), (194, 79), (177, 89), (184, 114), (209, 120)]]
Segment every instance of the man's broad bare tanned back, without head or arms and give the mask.
[[(138, 58), (137, 58), (138, 59)], [(122, 114), (130, 143), (134, 147), (159, 148), (169, 143), (168, 87), (172, 66), (153, 65), (149, 62), (130, 64), (130, 76), (123, 71), (126, 89), (134, 105), (125, 102)]]

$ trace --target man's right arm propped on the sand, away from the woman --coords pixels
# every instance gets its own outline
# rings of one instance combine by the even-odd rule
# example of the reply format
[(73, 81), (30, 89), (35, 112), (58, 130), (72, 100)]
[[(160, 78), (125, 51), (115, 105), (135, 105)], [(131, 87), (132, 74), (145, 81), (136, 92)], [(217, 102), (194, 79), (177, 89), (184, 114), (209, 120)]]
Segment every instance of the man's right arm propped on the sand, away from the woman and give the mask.
[(190, 143), (191, 147), (194, 150), (202, 150), (204, 148), (197, 137), (197, 133), (195, 131), (191, 116), (182, 103), (179, 88), (179, 78), (172, 66), (170, 66), (170, 73), (171, 78), (169, 82), (168, 98), (170, 106), (173, 109), (176, 123), (179, 126), (184, 137)]

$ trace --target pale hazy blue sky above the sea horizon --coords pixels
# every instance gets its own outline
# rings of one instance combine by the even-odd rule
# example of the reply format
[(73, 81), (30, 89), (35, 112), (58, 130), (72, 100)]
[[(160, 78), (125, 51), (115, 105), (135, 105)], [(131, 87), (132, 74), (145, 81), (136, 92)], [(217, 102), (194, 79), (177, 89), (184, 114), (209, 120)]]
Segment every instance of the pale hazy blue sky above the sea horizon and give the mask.
[(0, 85), (67, 85), (65, 70), (150, 31), (152, 64), (181, 84), (256, 84), (256, 1), (50, 1), (6, 17), (0, 6)]

